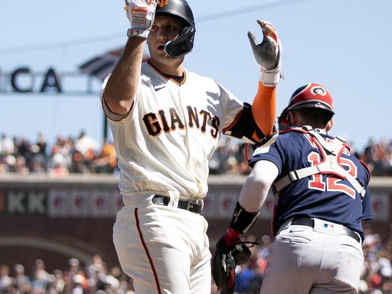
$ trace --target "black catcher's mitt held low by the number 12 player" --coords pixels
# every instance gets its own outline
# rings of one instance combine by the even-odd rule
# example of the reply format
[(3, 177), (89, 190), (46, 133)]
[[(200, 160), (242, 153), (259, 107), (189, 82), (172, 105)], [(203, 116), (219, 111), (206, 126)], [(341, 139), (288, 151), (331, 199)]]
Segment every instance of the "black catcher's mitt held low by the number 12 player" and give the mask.
[(212, 277), (221, 294), (234, 293), (236, 265), (250, 260), (251, 252), (245, 243), (227, 246), (224, 236), (217, 242), (217, 252), (212, 261)]

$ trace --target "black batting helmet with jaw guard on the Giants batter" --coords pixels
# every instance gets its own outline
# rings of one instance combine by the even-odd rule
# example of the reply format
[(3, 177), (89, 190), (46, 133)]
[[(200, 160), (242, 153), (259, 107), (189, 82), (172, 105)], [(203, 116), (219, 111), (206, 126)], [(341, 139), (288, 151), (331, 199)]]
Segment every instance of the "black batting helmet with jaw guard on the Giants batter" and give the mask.
[(159, 0), (155, 16), (168, 15), (184, 23), (180, 35), (165, 45), (165, 52), (172, 58), (181, 57), (193, 48), (195, 39), (195, 20), (191, 7), (185, 0)]

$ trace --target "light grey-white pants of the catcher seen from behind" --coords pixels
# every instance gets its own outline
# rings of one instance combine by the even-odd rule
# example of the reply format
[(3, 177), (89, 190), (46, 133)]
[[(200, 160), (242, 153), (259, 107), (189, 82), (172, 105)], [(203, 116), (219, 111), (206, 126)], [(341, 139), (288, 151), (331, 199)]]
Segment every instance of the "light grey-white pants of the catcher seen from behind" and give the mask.
[(318, 219), (314, 228), (282, 225), (270, 247), (261, 294), (357, 294), (362, 246), (342, 235), (341, 227)]

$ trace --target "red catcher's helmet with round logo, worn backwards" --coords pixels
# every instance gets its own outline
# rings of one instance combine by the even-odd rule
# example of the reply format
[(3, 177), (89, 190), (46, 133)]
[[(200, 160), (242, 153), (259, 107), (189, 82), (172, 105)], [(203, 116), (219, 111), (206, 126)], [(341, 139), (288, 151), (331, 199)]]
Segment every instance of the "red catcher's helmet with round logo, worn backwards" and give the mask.
[(334, 103), (328, 90), (319, 84), (309, 83), (294, 91), (289, 105), (278, 116), (279, 130), (290, 126), (289, 110), (305, 107), (321, 108), (335, 114)]

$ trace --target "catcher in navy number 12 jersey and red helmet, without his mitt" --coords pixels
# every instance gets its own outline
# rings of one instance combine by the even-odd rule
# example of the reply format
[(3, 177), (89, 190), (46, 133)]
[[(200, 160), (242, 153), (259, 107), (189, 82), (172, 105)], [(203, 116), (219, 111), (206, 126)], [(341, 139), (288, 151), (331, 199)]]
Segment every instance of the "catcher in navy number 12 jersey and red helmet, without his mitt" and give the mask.
[(298, 88), (278, 119), (291, 127), (250, 160), (239, 203), (255, 213), (271, 184), (275, 197), (263, 294), (358, 293), (370, 174), (342, 137), (328, 134), (333, 115), (325, 87)]

